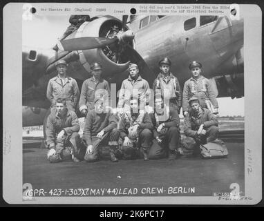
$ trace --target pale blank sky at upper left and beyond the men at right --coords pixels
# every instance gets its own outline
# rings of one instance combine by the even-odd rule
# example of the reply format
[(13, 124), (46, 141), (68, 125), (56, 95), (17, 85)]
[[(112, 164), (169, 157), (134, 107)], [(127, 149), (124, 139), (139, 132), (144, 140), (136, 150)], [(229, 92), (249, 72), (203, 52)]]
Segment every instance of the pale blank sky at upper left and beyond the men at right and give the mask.
[[(23, 46), (32, 48), (53, 48), (59, 37), (69, 26), (69, 17), (34, 17), (32, 21), (23, 21)], [(244, 98), (218, 98), (219, 115), (244, 116)]]

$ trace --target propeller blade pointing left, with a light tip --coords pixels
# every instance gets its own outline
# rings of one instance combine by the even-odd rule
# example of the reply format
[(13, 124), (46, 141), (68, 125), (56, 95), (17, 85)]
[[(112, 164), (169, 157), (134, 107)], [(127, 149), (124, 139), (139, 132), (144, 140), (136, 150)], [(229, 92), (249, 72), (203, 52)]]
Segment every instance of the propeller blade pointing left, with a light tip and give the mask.
[(117, 37), (108, 39), (105, 37), (78, 37), (73, 39), (64, 39), (59, 42), (58, 47), (60, 50), (88, 50), (93, 48), (103, 48), (117, 42)]

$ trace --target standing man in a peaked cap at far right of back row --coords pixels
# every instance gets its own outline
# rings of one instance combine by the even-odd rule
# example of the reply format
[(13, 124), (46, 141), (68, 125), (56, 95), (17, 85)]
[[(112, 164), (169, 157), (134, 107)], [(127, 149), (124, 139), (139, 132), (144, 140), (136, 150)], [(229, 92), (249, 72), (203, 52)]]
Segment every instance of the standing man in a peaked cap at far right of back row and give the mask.
[[(182, 96), (182, 113), (186, 117), (188, 114), (188, 101), (196, 96), (199, 99), (202, 108), (211, 109), (212, 113), (218, 113), (217, 91), (214, 90), (209, 79), (201, 75), (202, 64), (198, 61), (192, 61), (189, 64), (192, 77), (185, 82)], [(213, 108), (211, 108), (211, 104)]]

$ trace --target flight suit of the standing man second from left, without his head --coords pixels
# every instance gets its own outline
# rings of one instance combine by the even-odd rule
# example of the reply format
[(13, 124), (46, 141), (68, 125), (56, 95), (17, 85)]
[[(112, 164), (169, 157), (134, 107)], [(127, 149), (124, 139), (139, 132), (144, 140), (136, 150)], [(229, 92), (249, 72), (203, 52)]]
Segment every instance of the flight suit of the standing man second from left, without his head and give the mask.
[[(97, 97), (95, 97), (95, 95)], [(95, 108), (95, 99), (100, 97), (109, 99), (110, 106), (111, 92), (109, 83), (104, 79), (95, 81), (94, 77), (86, 79), (82, 84), (81, 95), (79, 97), (79, 111), (82, 111), (83, 109), (87, 109), (87, 111), (93, 110)]]

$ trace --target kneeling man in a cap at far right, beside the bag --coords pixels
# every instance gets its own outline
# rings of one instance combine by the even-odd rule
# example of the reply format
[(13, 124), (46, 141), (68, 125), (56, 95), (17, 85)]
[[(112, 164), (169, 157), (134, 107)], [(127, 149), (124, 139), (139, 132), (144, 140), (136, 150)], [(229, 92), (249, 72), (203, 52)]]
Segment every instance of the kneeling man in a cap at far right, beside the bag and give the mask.
[(189, 99), (189, 113), (185, 117), (184, 131), (187, 136), (183, 142), (185, 148), (200, 153), (200, 144), (206, 144), (218, 137), (218, 120), (207, 108), (200, 107), (197, 97)]

